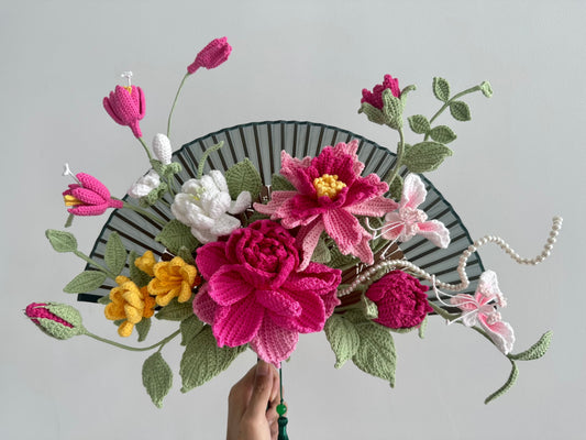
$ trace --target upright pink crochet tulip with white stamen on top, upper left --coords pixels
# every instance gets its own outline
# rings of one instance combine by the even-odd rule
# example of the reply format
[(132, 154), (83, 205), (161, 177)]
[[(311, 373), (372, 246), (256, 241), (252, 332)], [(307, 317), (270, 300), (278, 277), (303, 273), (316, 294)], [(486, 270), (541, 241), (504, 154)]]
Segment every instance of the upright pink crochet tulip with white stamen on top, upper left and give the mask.
[(139, 121), (144, 118), (144, 94), (140, 87), (115, 86), (109, 97), (103, 98), (103, 108), (120, 125), (128, 125), (136, 138), (142, 138)]

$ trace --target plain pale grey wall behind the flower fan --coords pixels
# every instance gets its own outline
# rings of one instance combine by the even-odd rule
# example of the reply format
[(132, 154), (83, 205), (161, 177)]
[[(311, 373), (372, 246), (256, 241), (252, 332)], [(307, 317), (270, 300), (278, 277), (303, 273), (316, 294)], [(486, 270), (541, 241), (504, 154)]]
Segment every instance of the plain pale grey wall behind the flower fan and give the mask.
[[(517, 386), (485, 406), (509, 374), (490, 344), (432, 319), (428, 336), (398, 336), (397, 386), (352, 364), (336, 371), (324, 336), (302, 337), (286, 365), (289, 432), (299, 439), (574, 439), (586, 395), (586, 52), (584, 1), (19, 1), (0, 15), (2, 99), (0, 363), (2, 439), (221, 439), (231, 385), (253, 353), (187, 395), (179, 377), (156, 409), (143, 391), (146, 354), (77, 338), (58, 342), (22, 316), (31, 301), (75, 304), (63, 286), (84, 267), (44, 238), (65, 221), (60, 177), (69, 162), (117, 196), (147, 167), (141, 147), (101, 99), (132, 69), (146, 94), (146, 139), (166, 127), (179, 79), (197, 51), (226, 35), (234, 51), (190, 78), (174, 144), (237, 123), (311, 120), (384, 145), (394, 132), (356, 114), (363, 87), (390, 73), (418, 85), (409, 114), (438, 106), (431, 78), (454, 90), (484, 79), (490, 100), (468, 99), (473, 121), (454, 123), (455, 154), (428, 177), (472, 235), (500, 234), (521, 254), (541, 250), (551, 217), (565, 218), (551, 260), (516, 265), (483, 251), (509, 298), (516, 351), (554, 331), (551, 351), (520, 364)], [(449, 119), (446, 118), (445, 121)], [(77, 219), (90, 251), (106, 217)], [(102, 307), (78, 304), (87, 327), (117, 338)], [(170, 327), (153, 333), (166, 334)], [(156, 338), (152, 339), (156, 341)], [(165, 348), (178, 372), (180, 349)]]

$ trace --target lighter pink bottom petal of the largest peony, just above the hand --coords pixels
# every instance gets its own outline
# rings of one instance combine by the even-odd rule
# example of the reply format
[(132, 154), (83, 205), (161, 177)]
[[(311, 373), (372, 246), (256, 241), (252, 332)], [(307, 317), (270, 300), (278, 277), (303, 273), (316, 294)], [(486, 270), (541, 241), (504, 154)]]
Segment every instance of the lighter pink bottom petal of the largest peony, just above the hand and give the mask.
[(270, 319), (265, 319), (251, 341), (251, 348), (263, 361), (279, 367), (280, 362), (295, 351), (298, 340), (299, 334), (296, 331), (279, 328)]

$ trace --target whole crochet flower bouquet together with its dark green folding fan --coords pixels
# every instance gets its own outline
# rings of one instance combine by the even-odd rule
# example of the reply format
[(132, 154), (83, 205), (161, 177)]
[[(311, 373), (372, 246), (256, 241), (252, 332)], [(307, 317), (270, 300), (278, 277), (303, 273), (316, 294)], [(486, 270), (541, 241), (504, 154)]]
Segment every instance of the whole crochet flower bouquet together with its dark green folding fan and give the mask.
[[(206, 46), (187, 68), (177, 97), (188, 77), (219, 66), (230, 52), (225, 38)], [(561, 219), (554, 218), (543, 252), (522, 258), (498, 237), (473, 242), (452, 207), (419, 176), (452, 155), (446, 144), (456, 135), (436, 124), (438, 117), (449, 110), (456, 121), (469, 120), (462, 98), (476, 91), (490, 97), (488, 82), (452, 95), (445, 79), (434, 78), (439, 110), (430, 119), (406, 118), (412, 143), (403, 113), (414, 87), (401, 90), (386, 75), (382, 85), (363, 90), (358, 112), (398, 133), (396, 155), (339, 129), (284, 121), (228, 129), (172, 154), (177, 97), (166, 135), (156, 134), (151, 148), (140, 127), (144, 94), (130, 84), (131, 73), (124, 75), (128, 85), (117, 86), (103, 107), (132, 130), (151, 169), (121, 200), (97, 178), (66, 166), (75, 180), (63, 193), (68, 223), (109, 208), (114, 212), (90, 255), (69, 232), (46, 235), (57, 252), (88, 263), (64, 290), (99, 298), (120, 337), (145, 340), (153, 318), (177, 322), (167, 338), (132, 348), (154, 351), (144, 361), (143, 383), (155, 405), (172, 387), (162, 354), (172, 342), (185, 346), (183, 392), (218, 375), (246, 349), (280, 366), (299, 333), (322, 330), (336, 369), (351, 361), (392, 386), (392, 334), (417, 330), (422, 338), (428, 317), (439, 315), (474, 329), (510, 361), (509, 380), (487, 403), (513, 384), (517, 361), (545, 353), (550, 332), (513, 354), (497, 276), (484, 271), (476, 250), (495, 243), (518, 263), (537, 264), (550, 254)], [(25, 314), (55, 338), (85, 334), (128, 348), (90, 333), (70, 306), (31, 304)]]

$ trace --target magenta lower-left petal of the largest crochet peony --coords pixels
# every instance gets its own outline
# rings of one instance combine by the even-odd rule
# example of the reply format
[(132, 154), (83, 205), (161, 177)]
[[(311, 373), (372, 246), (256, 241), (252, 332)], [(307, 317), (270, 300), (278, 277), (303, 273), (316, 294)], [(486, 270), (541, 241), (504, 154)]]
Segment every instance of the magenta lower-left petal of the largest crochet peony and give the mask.
[(218, 346), (248, 343), (257, 333), (265, 309), (248, 296), (232, 306), (218, 307), (213, 318), (213, 336)]

